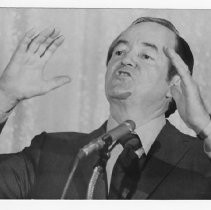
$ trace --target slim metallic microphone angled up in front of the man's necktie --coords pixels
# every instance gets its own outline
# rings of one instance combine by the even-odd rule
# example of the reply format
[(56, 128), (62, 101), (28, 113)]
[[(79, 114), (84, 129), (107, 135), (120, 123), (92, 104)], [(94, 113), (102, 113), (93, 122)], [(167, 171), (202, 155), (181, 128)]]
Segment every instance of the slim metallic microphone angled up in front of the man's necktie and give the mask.
[(126, 120), (117, 127), (101, 135), (97, 139), (94, 139), (89, 144), (82, 147), (79, 151), (79, 159), (90, 155), (94, 151), (98, 151), (104, 147), (104, 145), (110, 146), (113, 141), (118, 140), (124, 135), (134, 131), (136, 127), (135, 122), (132, 120)]

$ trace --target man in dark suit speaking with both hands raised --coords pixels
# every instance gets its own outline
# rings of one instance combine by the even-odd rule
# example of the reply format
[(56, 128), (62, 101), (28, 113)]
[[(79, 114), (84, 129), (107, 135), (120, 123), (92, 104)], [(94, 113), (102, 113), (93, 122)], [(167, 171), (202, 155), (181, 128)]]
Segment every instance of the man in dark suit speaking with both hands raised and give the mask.
[[(2, 123), (19, 101), (70, 81), (67, 76), (42, 78), (46, 62), (62, 42), (56, 30), (25, 35), (0, 78)], [(94, 198), (211, 198), (211, 123), (190, 76), (192, 68), (189, 46), (169, 21), (137, 19), (109, 48), (105, 92), (110, 117), (106, 123), (90, 134), (44, 132), (20, 153), (1, 155), (0, 197), (59, 198), (78, 149), (130, 119), (136, 123), (139, 147), (130, 147), (128, 156), (122, 155), (121, 144), (111, 150)], [(182, 119), (204, 141), (182, 134), (166, 121), (165, 115), (173, 112), (173, 99)], [(123, 179), (117, 174), (117, 180), (122, 180), (118, 188), (113, 181), (117, 159), (123, 157), (125, 164), (131, 155), (135, 167), (129, 165), (129, 169), (134, 171), (125, 171)], [(80, 161), (66, 198), (86, 198), (98, 159), (98, 153), (93, 153)]]

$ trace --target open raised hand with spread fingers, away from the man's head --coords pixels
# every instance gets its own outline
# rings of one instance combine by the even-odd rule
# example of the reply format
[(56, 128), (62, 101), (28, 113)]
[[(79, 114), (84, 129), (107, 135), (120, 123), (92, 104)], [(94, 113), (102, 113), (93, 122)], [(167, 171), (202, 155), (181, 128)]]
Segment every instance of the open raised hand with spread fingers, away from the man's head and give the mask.
[(43, 95), (69, 83), (69, 76), (46, 80), (43, 74), (48, 60), (63, 41), (63, 36), (55, 29), (48, 28), (40, 33), (33, 29), (28, 31), (0, 77), (0, 95), (14, 106), (18, 101)]

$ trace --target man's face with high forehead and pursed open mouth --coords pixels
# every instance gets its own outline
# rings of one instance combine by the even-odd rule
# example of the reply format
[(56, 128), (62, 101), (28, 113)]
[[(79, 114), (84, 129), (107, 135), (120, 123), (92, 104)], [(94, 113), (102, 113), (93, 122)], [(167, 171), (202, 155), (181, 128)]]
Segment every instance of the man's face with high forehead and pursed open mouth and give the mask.
[(105, 91), (112, 99), (137, 105), (163, 100), (169, 90), (169, 61), (164, 47), (174, 48), (175, 34), (153, 22), (129, 27), (116, 42), (107, 66)]

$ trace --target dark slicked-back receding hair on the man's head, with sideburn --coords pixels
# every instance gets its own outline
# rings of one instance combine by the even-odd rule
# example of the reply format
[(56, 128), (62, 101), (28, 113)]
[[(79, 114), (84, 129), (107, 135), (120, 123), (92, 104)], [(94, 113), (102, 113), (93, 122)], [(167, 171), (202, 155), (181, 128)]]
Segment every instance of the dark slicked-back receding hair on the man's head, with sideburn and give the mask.
[[(182, 58), (184, 63), (188, 66), (190, 74), (192, 75), (193, 65), (194, 65), (193, 54), (190, 50), (188, 43), (179, 35), (179, 32), (177, 31), (175, 26), (170, 21), (165, 20), (163, 18), (141, 17), (141, 18), (138, 18), (137, 20), (135, 20), (129, 27), (136, 25), (136, 24), (139, 24), (139, 23), (143, 23), (143, 22), (158, 23), (160, 25), (165, 26), (166, 28), (170, 29), (171, 31), (173, 31), (175, 33), (176, 42), (177, 42), (176, 46), (175, 46), (175, 51), (179, 54), (179, 56)], [(108, 65), (108, 62), (111, 59), (115, 44), (118, 41), (121, 34), (112, 42), (112, 44), (109, 47), (107, 59), (106, 59), (106, 66)], [(177, 74), (177, 70), (172, 65), (172, 63), (170, 63), (167, 79), (171, 80), (173, 78), (173, 76), (176, 75), (176, 74)], [(176, 109), (177, 109), (176, 102), (172, 98), (171, 102), (169, 103), (168, 110), (165, 112), (165, 117), (168, 118), (171, 114), (173, 114), (175, 112)]]

